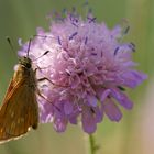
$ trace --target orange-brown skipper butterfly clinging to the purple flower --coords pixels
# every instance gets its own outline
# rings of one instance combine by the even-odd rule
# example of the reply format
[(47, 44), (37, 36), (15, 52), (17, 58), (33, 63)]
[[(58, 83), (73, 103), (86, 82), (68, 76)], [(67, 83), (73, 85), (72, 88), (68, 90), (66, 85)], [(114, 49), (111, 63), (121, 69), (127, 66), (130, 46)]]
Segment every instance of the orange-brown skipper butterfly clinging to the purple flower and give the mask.
[(38, 105), (36, 100), (36, 70), (28, 55), (19, 58), (3, 103), (0, 108), (0, 143), (15, 140), (31, 128), (38, 127)]

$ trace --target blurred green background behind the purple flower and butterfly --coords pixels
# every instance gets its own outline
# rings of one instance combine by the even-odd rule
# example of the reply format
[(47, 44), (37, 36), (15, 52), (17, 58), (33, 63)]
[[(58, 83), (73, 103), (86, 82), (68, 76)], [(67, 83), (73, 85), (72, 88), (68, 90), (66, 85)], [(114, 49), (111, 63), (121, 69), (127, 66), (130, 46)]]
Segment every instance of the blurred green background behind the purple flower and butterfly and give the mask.
[[(85, 14), (85, 0), (0, 0), (0, 100), (18, 63), (16, 53), (10, 50), (6, 36), (19, 50), (18, 38), (28, 41), (37, 26), (47, 30), (46, 15), (53, 10), (76, 7)], [(110, 28), (127, 19), (131, 26), (125, 41), (136, 44), (133, 58), (138, 69), (148, 74), (148, 80), (129, 95), (135, 102), (132, 111), (123, 110), (119, 123), (105, 118), (95, 133), (101, 146), (98, 154), (153, 154), (154, 153), (154, 0), (89, 0), (98, 21)], [(52, 124), (41, 124), (24, 138), (0, 145), (0, 154), (85, 154), (85, 134), (80, 127), (69, 125), (65, 133), (56, 133)]]

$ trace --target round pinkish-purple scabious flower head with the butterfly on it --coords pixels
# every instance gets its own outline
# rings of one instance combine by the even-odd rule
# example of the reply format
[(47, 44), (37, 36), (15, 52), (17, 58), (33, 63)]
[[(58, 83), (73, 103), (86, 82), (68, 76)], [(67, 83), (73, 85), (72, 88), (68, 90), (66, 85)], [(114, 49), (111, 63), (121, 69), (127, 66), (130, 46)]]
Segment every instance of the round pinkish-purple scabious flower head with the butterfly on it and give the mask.
[[(37, 67), (40, 121), (53, 122), (57, 132), (68, 123), (81, 121), (85, 132), (94, 133), (106, 114), (119, 121), (119, 106), (130, 110), (132, 101), (127, 88), (135, 88), (146, 75), (134, 69), (133, 43), (122, 43), (122, 28), (112, 30), (88, 15), (82, 20), (75, 13), (51, 23), (50, 31), (37, 29), (30, 46), (30, 58)], [(28, 44), (20, 56), (25, 56)], [(41, 58), (46, 51), (48, 53)]]

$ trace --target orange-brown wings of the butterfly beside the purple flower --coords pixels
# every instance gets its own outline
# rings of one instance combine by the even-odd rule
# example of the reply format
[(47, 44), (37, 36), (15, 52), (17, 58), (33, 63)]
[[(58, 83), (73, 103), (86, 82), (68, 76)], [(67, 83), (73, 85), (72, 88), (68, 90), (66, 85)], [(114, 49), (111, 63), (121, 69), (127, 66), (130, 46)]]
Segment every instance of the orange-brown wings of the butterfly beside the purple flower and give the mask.
[(12, 80), (8, 88), (0, 109), (0, 143), (25, 134), (31, 127), (37, 128), (36, 95), (26, 79), (19, 82)]

